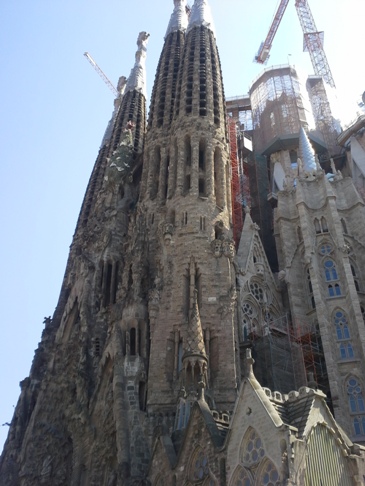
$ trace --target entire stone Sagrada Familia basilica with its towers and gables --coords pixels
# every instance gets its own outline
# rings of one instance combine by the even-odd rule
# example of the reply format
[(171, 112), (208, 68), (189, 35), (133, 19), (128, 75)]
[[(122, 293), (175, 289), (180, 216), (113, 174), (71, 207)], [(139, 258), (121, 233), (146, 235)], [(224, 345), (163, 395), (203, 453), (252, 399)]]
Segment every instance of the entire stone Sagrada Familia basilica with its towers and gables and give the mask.
[[(311, 130), (281, 66), (253, 83), (244, 126), (208, 1), (174, 0), (147, 119), (148, 37), (0, 485), (363, 485), (365, 115)], [(322, 80), (307, 88), (315, 112)]]

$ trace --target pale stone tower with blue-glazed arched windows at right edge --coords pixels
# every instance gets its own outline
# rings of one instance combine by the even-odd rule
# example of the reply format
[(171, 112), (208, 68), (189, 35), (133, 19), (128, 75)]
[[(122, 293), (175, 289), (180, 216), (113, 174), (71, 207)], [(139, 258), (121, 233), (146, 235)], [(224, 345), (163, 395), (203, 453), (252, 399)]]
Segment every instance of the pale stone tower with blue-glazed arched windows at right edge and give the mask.
[(354, 397), (365, 371), (364, 202), (333, 161), (332, 172), (324, 173), (303, 128), (299, 157), (298, 176), (286, 176), (275, 210), (293, 330), (303, 354), (311, 348), (309, 368), (331, 399), (336, 420), (360, 438), (365, 409)]

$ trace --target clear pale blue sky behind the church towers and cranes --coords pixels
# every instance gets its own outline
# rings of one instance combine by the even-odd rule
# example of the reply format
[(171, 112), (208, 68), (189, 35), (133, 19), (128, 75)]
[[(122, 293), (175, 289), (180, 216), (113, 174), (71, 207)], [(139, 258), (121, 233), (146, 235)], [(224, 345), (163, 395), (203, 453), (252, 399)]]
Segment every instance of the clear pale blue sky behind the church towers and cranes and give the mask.
[[(346, 108), (365, 90), (364, 0), (309, 0)], [(244, 94), (277, 0), (210, 0), (226, 96)], [(1, 336), (0, 449), (28, 376), (44, 316), (57, 303), (78, 212), (113, 109), (113, 95), (83, 57), (116, 84), (146, 30), (151, 91), (172, 0), (0, 2)], [(312, 74), (291, 0), (268, 66)]]

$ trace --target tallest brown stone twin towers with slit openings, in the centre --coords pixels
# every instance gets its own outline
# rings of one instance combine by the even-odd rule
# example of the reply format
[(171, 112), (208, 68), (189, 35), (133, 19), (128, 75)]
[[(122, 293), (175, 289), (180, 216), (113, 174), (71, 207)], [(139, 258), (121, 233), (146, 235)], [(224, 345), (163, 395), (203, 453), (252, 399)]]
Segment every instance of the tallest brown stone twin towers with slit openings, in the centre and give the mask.
[(207, 388), (223, 408), (232, 407), (236, 389), (234, 248), (220, 61), (207, 2), (195, 2), (187, 28), (184, 4), (175, 2), (157, 70), (142, 174), (140, 204), (153, 280), (151, 413), (175, 409), (195, 290), (209, 361)]

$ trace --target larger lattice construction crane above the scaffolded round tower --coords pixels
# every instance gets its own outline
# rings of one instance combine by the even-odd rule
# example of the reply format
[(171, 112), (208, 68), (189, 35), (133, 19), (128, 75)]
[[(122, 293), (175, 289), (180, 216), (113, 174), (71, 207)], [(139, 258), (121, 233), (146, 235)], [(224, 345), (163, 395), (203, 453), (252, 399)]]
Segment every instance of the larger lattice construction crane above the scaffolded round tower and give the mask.
[[(255, 61), (264, 64), (267, 62), (275, 34), (278, 30), (280, 22), (288, 6), (289, 0), (280, 0), (279, 7), (271, 23), (269, 33), (264, 42), (261, 43), (260, 49), (255, 56)], [(326, 54), (323, 49), (323, 32), (318, 32), (312, 12), (309, 8), (307, 0), (296, 0), (295, 8), (299, 17), (299, 22), (304, 35), (304, 50), (309, 52), (314, 73), (317, 76), (322, 76), (324, 81), (335, 87), (335, 82), (327, 61)]]

